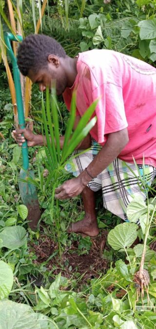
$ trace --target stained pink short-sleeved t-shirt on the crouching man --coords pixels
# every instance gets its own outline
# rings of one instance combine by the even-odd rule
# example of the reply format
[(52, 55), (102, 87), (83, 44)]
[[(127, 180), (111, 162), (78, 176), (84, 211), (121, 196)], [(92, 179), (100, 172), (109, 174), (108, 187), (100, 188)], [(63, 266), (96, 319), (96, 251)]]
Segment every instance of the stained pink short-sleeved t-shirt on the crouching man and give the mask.
[(63, 98), (70, 110), (77, 90), (80, 116), (99, 98), (97, 123), (90, 134), (101, 145), (110, 133), (127, 127), (129, 142), (118, 157), (156, 167), (156, 69), (137, 59), (112, 50), (90, 50), (79, 54), (77, 77)]

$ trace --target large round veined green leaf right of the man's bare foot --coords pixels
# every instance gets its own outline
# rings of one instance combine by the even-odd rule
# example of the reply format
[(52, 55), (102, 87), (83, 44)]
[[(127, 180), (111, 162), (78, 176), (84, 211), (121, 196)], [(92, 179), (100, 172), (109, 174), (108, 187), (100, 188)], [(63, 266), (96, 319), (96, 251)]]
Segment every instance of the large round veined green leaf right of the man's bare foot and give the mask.
[(115, 250), (129, 248), (137, 239), (137, 225), (123, 223), (115, 227), (108, 234), (108, 243)]

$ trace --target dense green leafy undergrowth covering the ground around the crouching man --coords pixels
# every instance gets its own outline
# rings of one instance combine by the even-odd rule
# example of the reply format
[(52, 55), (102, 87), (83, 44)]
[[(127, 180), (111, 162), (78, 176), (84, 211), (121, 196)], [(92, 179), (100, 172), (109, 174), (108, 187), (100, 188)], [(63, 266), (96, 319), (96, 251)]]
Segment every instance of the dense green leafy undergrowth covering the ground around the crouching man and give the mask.
[[(94, 47), (108, 48), (155, 65), (156, 1), (109, 2), (71, 1), (68, 17), (62, 5), (51, 5), (42, 31), (53, 34), (71, 56)], [(24, 15), (28, 34), (33, 32), (28, 6)], [(11, 138), (13, 111), (3, 68), (1, 72), (0, 131), (5, 139), (0, 142), (0, 329), (154, 329), (156, 181), (146, 203), (137, 199), (129, 206), (130, 223), (104, 211), (97, 193), (100, 233), (96, 238), (67, 233), (72, 222), (83, 218), (81, 198), (60, 202), (60, 257), (55, 203), (51, 216), (53, 180), (47, 184), (45, 150), (38, 147), (29, 150), (29, 157), (42, 214), (38, 230), (28, 228), (18, 188), (21, 150)], [(69, 115), (61, 98), (59, 108), (59, 132), (64, 134)], [(40, 133), (41, 94), (36, 86), (30, 115)], [(68, 177), (62, 172), (60, 183)], [(147, 189), (144, 180), (140, 186)], [(131, 247), (136, 237), (138, 243)]]

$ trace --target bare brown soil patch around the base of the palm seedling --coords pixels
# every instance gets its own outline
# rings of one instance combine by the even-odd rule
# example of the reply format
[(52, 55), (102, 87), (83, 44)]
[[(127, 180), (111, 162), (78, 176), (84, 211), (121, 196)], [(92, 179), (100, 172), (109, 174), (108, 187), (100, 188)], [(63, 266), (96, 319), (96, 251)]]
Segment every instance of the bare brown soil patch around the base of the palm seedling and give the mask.
[[(52, 271), (52, 275), (59, 274), (66, 278), (73, 277), (73, 274), (79, 273), (82, 276), (82, 281), (99, 276), (99, 272), (105, 272), (108, 268), (108, 261), (102, 258), (102, 253), (105, 248), (107, 232), (103, 231), (97, 237), (91, 238), (92, 246), (88, 254), (79, 254), (78, 242), (74, 241), (69, 250), (64, 251), (62, 259), (58, 255), (52, 257), (45, 265), (48, 271)], [(42, 235), (39, 239), (39, 245), (35, 243), (30, 246), (38, 257), (34, 263), (40, 264), (46, 262), (47, 259), (58, 250), (57, 243), (52, 241), (46, 235)], [(82, 252), (81, 252), (82, 253)]]

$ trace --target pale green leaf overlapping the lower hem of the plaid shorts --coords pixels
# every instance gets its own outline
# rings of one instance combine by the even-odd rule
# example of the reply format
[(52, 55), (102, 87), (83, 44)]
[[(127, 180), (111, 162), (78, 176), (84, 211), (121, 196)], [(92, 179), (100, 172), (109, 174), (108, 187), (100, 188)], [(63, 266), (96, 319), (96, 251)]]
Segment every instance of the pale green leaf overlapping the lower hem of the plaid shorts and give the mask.
[(127, 206), (127, 217), (131, 222), (136, 222), (140, 215), (147, 213), (147, 205), (141, 196), (137, 196)]

